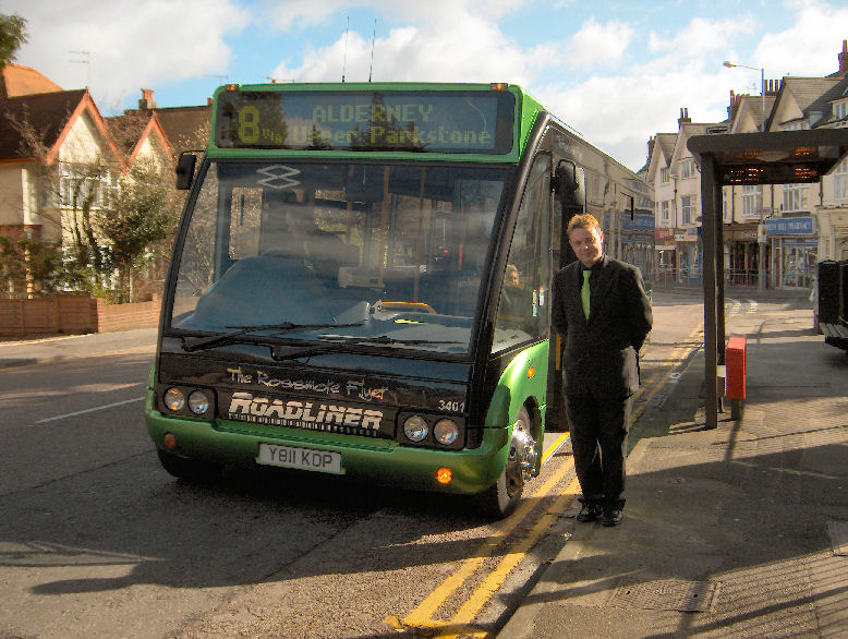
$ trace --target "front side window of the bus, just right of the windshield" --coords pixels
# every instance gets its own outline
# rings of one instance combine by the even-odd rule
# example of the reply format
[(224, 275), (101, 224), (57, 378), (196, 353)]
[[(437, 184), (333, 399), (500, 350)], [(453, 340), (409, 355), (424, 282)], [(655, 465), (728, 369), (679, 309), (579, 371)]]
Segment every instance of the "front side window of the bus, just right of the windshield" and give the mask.
[[(495, 326), (535, 339), (547, 331), (550, 244), (550, 157), (536, 158), (519, 208)], [(511, 340), (510, 340), (511, 343)], [(499, 348), (495, 339), (493, 349)]]

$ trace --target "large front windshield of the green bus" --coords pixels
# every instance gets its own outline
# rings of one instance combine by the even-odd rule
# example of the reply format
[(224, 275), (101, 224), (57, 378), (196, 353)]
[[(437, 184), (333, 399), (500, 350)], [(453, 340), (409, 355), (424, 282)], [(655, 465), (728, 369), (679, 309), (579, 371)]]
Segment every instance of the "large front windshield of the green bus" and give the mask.
[(512, 170), (213, 160), (178, 252), (170, 328), (315, 352), (467, 353)]

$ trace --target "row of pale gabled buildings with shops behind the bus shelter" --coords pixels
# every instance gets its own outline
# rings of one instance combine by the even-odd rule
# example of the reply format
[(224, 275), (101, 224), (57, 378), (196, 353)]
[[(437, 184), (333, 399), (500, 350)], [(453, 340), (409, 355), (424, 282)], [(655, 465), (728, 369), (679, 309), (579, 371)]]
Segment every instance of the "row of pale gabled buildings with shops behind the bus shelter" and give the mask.
[[(760, 95), (730, 93), (724, 122), (693, 124), (681, 109), (677, 133), (649, 141), (656, 202), (659, 279), (700, 281), (701, 176), (686, 143), (692, 135), (848, 126), (848, 41), (827, 77), (765, 80)], [(848, 158), (820, 183), (725, 186), (727, 284), (811, 288), (816, 263), (848, 258)]]

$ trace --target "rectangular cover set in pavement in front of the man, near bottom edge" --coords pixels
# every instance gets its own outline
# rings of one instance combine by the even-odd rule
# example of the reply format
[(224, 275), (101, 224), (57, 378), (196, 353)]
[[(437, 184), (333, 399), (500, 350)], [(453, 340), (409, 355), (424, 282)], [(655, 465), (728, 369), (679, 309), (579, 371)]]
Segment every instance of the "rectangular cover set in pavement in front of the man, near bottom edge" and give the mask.
[(651, 611), (704, 613), (713, 610), (720, 582), (661, 579), (619, 586), (607, 605)]

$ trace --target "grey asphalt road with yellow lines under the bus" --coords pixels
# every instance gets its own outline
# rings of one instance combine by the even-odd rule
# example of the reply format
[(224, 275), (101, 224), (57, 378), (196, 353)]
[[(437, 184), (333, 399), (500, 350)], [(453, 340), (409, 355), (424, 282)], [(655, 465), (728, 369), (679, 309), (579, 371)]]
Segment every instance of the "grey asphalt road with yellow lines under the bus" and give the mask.
[[(694, 294), (655, 299), (638, 419), (656, 422), (702, 317)], [(573, 529), (567, 445), (497, 522), (324, 475), (175, 481), (142, 415), (152, 354), (0, 373), (0, 637), (486, 636)]]

